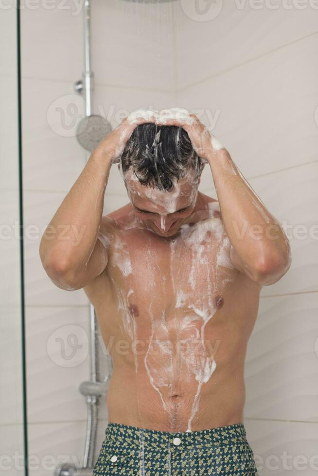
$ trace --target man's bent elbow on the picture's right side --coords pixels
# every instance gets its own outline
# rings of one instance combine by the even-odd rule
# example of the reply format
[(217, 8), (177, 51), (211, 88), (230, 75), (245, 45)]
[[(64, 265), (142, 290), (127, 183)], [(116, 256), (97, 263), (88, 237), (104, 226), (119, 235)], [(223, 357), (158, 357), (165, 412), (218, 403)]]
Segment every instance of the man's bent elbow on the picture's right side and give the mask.
[(253, 281), (260, 286), (270, 286), (277, 283), (288, 271), (291, 264), (289, 250), (285, 254), (271, 254), (255, 265)]

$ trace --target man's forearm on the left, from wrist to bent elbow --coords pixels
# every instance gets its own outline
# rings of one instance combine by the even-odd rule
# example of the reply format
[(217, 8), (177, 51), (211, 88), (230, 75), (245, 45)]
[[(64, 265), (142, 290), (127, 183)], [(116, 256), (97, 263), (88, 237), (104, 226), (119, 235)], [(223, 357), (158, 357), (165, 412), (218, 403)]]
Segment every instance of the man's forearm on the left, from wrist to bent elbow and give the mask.
[(105, 148), (95, 149), (53, 216), (40, 245), (47, 271), (80, 273), (88, 263), (100, 228), (111, 163)]

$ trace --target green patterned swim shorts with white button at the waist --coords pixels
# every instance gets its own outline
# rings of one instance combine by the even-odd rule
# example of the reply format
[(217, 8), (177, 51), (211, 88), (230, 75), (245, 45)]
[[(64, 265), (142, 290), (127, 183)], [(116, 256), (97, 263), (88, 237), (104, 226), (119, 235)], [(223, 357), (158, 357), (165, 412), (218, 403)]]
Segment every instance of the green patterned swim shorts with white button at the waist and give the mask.
[(93, 476), (255, 476), (243, 424), (185, 433), (109, 423)]

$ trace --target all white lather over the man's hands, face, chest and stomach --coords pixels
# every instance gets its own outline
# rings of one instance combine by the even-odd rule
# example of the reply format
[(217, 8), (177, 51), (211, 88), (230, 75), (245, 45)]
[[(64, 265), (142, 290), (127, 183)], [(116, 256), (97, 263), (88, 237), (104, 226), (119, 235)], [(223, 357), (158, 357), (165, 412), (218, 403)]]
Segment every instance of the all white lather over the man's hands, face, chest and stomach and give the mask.
[[(128, 120), (133, 122), (141, 117), (149, 119), (154, 114), (157, 114), (157, 118), (162, 124), (168, 119), (180, 118), (180, 116), (183, 120), (188, 118), (189, 123), (193, 120), (188, 111), (178, 108), (160, 113), (138, 110), (129, 115)], [(213, 136), (211, 140), (214, 150), (222, 148)], [(128, 170), (124, 177), (121, 163), (120, 172), (125, 182), (129, 181), (129, 187), (126, 188), (131, 199), (131, 192), (138, 194), (139, 179), (132, 169)], [(152, 187), (145, 187), (143, 190), (153, 206), (155, 207), (156, 204), (159, 206), (161, 229), (164, 229), (167, 215), (177, 210), (181, 192), (178, 183), (176, 182), (174, 185), (175, 188), (169, 193)], [(196, 197), (197, 187), (193, 187), (191, 196), (193, 203), (195, 203)], [(209, 348), (205, 342), (205, 327), (216, 313), (218, 299), (222, 296), (226, 285), (235, 276), (234, 267), (230, 261), (231, 245), (220, 218), (219, 204), (217, 202), (210, 203), (207, 210), (194, 213), (191, 221), (194, 224), (183, 225), (180, 235), (170, 241), (170, 279), (172, 279), (175, 296), (174, 306), (177, 311), (175, 316), (170, 315), (167, 320), (164, 309), (161, 314), (158, 313), (158, 309), (156, 309), (158, 288), (154, 282), (147, 283), (147, 292), (150, 296), (147, 315), (151, 332), (143, 357), (149, 382), (158, 392), (162, 408), (167, 412), (172, 425), (175, 423), (175, 409), (169, 395), (174, 393), (180, 375), (192, 386), (196, 385), (194, 387), (196, 391), (191, 397), (192, 401), (189, 402), (187, 431), (192, 431), (192, 422), (199, 409), (202, 387), (212, 378), (217, 366), (214, 350)], [(132, 215), (131, 222), (126, 223), (124, 229), (129, 230), (134, 227), (140, 229), (144, 225)], [(146, 267), (151, 275), (156, 264), (155, 257), (151, 256), (150, 243), (147, 246), (148, 248), (143, 250), (143, 255), (148, 256)], [(112, 265), (120, 270), (124, 281), (127, 282), (125, 289), (119, 290), (119, 311), (122, 315), (125, 332), (134, 341), (138, 340), (139, 334), (139, 318), (133, 316), (129, 310), (129, 302), (137, 292), (133, 284), (134, 269), (128, 244), (119, 239), (115, 243), (114, 249)], [(198, 288), (198, 272), (200, 275), (206, 276), (208, 284), (204, 289)], [(185, 280), (185, 276), (188, 276), (188, 280)], [(165, 295), (166, 276), (160, 276), (160, 270), (158, 270), (157, 277), (159, 281), (161, 280), (160, 290)], [(180, 311), (183, 313), (183, 318), (180, 318)], [(177, 331), (177, 345), (182, 342), (186, 344), (182, 346), (182, 349), (174, 348), (170, 340), (171, 327)], [(135, 370), (137, 374), (139, 365), (136, 356)]]

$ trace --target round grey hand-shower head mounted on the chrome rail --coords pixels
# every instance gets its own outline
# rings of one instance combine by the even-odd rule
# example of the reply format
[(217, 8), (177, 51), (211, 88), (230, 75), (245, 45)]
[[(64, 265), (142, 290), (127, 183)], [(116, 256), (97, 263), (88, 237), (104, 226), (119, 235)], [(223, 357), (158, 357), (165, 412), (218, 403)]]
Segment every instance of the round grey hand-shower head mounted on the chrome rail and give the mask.
[(102, 116), (86, 116), (77, 127), (77, 140), (84, 149), (92, 152), (112, 131), (107, 119)]

